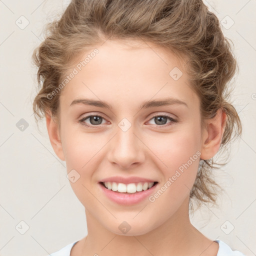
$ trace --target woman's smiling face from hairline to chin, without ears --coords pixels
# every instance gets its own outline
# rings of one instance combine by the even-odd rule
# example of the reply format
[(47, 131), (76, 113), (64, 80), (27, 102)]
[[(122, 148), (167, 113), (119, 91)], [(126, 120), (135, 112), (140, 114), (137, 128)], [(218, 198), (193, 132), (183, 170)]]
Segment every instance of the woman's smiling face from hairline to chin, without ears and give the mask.
[[(119, 225), (126, 221), (127, 235), (147, 233), (187, 211), (201, 150), (199, 98), (184, 61), (160, 47), (107, 40), (96, 48), (81, 70), (70, 69), (78, 72), (60, 95), (61, 150), (75, 176), (70, 184), (102, 228), (123, 234)], [(169, 103), (146, 104), (159, 100)], [(123, 194), (100, 183), (116, 177), (135, 187), (139, 180), (157, 183), (118, 201)]]

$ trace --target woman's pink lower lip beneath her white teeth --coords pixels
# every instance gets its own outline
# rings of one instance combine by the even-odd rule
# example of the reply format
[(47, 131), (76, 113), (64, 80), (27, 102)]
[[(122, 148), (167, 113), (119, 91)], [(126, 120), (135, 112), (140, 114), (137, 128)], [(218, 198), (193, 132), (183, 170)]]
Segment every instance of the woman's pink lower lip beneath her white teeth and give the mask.
[(158, 183), (151, 186), (147, 190), (142, 190), (140, 192), (135, 193), (120, 193), (112, 191), (111, 189), (106, 188), (103, 184), (99, 183), (99, 186), (101, 187), (102, 191), (105, 193), (105, 195), (111, 199), (112, 201), (123, 204), (123, 205), (132, 205), (135, 203), (139, 203), (140, 201), (144, 200), (145, 198), (148, 198), (149, 195), (153, 192), (155, 187)]

